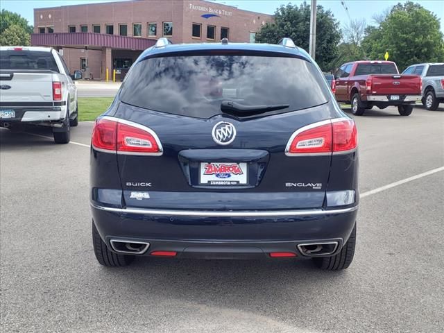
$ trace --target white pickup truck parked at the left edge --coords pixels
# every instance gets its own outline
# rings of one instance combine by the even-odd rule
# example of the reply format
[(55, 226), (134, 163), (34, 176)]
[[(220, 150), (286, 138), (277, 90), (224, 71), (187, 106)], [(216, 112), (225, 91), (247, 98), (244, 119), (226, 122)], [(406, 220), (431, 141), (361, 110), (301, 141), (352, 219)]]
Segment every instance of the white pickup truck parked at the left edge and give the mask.
[(77, 88), (81, 71), (69, 74), (58, 51), (46, 47), (0, 47), (0, 126), (49, 126), (54, 142), (67, 144), (78, 124)]

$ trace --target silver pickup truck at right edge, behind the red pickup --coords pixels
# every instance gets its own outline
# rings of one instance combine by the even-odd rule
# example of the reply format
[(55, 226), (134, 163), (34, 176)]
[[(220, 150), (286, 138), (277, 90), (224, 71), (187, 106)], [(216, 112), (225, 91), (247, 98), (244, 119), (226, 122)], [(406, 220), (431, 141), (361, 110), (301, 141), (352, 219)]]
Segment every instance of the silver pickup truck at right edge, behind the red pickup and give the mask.
[(436, 110), (444, 103), (444, 62), (411, 65), (402, 74), (421, 76), (422, 104), (427, 110)]

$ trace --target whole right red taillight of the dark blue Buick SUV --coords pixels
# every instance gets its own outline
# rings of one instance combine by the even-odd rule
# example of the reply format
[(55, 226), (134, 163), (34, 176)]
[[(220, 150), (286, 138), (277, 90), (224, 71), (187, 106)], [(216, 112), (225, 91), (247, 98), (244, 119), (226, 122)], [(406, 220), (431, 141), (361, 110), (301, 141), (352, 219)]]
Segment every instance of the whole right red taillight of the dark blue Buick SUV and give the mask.
[(329, 155), (347, 153), (357, 148), (355, 121), (338, 118), (312, 123), (296, 130), (285, 153), (288, 156)]

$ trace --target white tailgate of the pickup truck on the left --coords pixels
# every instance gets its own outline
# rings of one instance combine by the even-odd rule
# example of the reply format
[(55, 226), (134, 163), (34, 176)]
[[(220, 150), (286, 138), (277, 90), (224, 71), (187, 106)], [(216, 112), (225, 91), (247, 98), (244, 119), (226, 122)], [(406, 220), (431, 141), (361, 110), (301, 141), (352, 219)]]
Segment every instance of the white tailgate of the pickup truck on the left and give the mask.
[(0, 102), (42, 102), (53, 100), (53, 74), (51, 72), (1, 71)]

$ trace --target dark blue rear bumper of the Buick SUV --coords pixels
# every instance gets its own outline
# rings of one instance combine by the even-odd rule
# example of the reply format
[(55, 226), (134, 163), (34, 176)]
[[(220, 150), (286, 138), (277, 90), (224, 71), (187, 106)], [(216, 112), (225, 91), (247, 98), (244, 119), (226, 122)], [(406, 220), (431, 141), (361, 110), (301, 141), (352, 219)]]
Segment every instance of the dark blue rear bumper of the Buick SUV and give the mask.
[(335, 210), (253, 212), (164, 211), (92, 205), (101, 238), (149, 243), (143, 255), (173, 251), (177, 257), (254, 258), (269, 253), (306, 257), (298, 245), (337, 242), (341, 250), (355, 225), (357, 206)]

